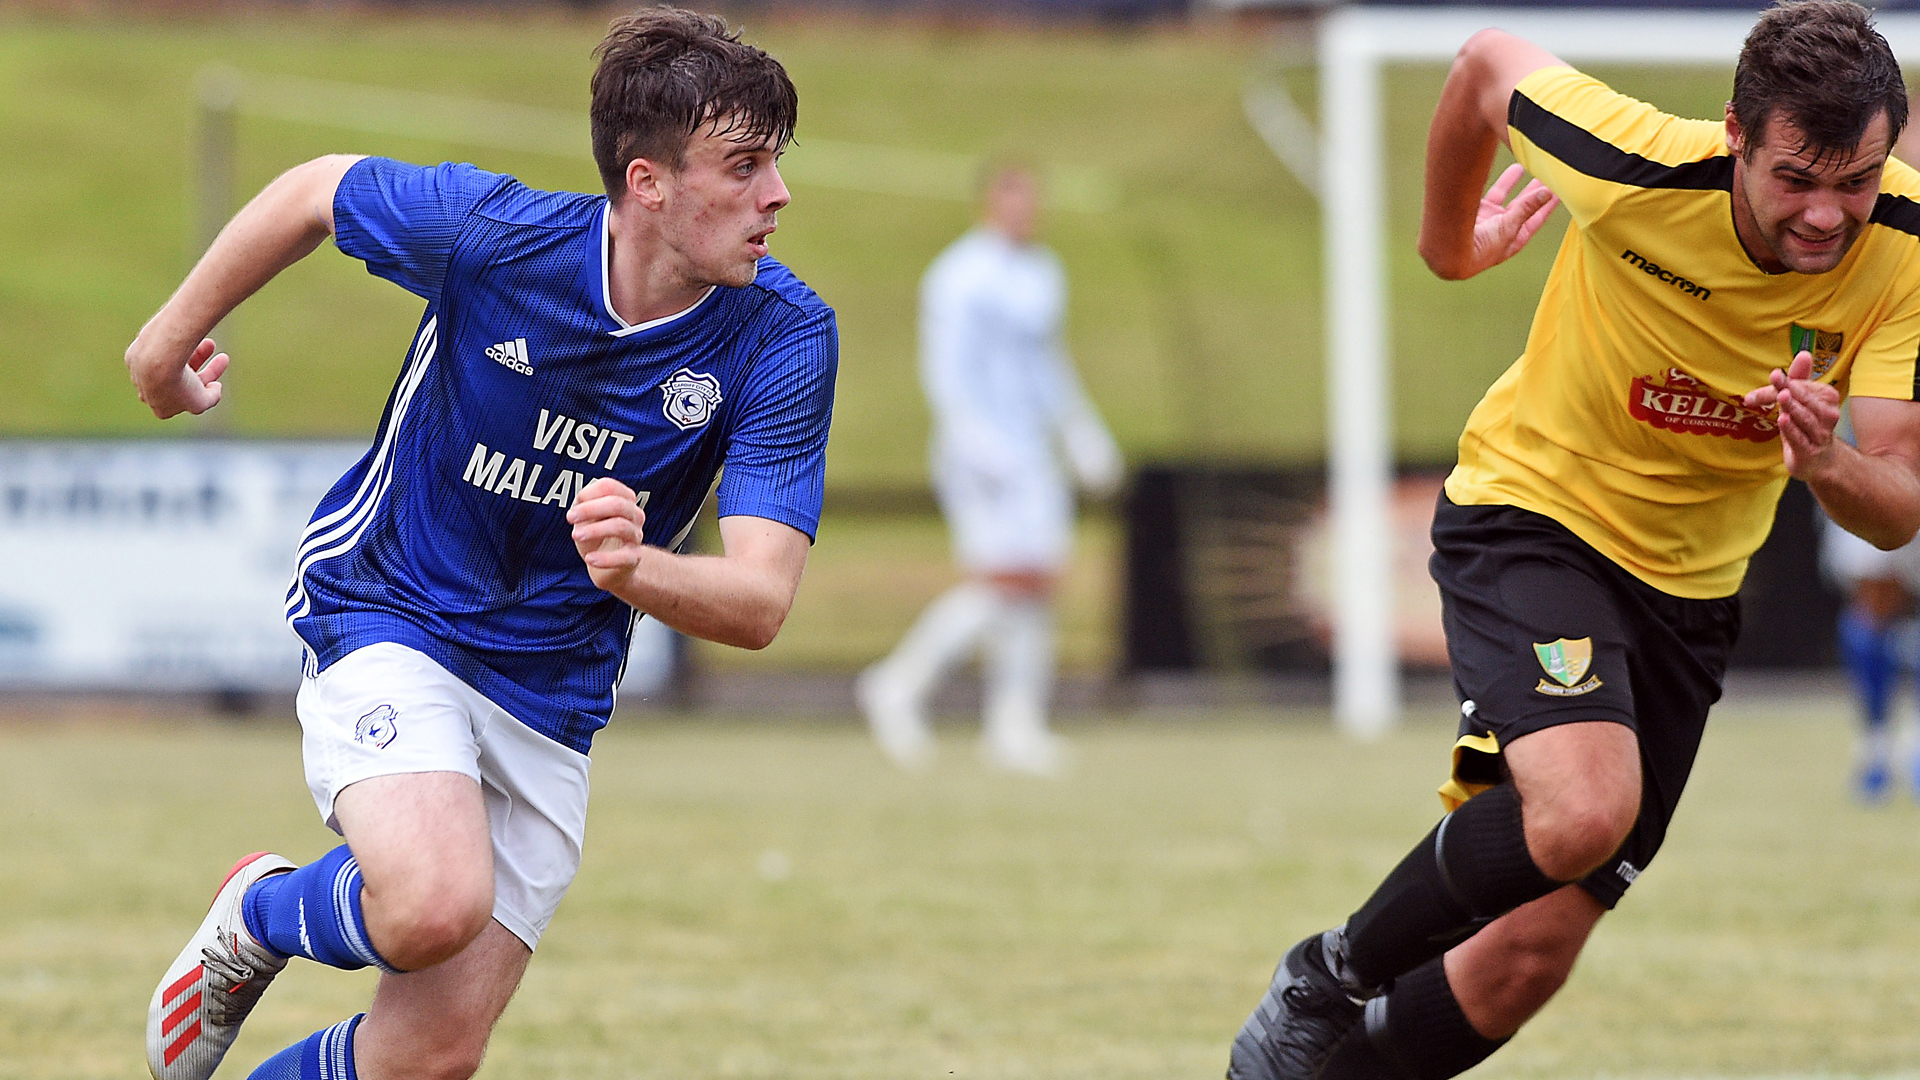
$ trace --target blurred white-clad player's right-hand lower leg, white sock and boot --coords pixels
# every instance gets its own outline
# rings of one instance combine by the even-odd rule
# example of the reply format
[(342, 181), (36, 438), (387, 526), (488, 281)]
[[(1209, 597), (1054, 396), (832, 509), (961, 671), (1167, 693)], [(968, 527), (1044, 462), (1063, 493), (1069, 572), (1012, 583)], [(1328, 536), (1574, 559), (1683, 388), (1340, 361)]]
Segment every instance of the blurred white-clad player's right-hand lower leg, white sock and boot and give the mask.
[(981, 751), (1000, 769), (1056, 776), (1066, 746), (1046, 730), (1054, 692), (1054, 609), (1037, 598), (1002, 600), (989, 626)]

